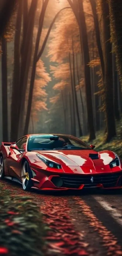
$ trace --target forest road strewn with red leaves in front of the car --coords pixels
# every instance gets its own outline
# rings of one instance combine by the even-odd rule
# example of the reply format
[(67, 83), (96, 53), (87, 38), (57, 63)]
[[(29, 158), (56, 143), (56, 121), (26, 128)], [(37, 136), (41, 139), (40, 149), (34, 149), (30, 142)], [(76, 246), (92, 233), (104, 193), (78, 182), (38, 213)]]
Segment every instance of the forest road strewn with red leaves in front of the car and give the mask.
[(0, 183), (13, 197), (29, 196), (38, 205), (51, 228), (45, 255), (122, 255), (122, 190), (56, 195), (25, 192), (13, 182)]

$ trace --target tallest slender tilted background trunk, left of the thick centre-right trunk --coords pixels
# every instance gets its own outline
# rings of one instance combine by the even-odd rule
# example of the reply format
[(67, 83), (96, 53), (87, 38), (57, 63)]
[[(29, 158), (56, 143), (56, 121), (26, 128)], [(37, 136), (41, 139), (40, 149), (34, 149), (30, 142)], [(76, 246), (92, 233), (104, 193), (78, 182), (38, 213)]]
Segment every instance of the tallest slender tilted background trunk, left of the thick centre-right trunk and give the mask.
[(73, 82), (74, 82), (74, 99), (76, 104), (76, 114), (77, 114), (77, 121), (78, 121), (78, 129), (79, 129), (79, 136), (83, 136), (81, 123), (80, 123), (80, 116), (78, 111), (78, 101), (77, 101), (77, 94), (76, 94), (76, 82), (75, 82), (75, 59), (74, 59), (74, 42), (72, 40), (72, 56), (73, 56)]

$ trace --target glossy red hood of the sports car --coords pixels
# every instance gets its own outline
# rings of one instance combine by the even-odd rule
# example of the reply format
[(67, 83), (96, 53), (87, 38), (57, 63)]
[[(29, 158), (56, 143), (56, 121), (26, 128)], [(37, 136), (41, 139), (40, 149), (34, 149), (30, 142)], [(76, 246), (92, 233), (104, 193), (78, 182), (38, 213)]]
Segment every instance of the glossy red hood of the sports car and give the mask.
[[(51, 150), (36, 152), (47, 160), (66, 166), (102, 166), (108, 165), (115, 158), (115, 154), (108, 150), (99, 153), (94, 150)], [(92, 157), (90, 154), (92, 154)], [(97, 154), (98, 159), (94, 159), (94, 154)]]

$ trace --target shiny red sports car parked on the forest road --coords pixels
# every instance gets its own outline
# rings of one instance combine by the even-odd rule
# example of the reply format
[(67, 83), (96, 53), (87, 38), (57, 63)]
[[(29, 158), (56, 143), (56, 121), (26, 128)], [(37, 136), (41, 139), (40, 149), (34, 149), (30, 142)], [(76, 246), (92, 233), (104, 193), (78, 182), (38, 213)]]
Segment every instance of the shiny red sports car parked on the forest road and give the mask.
[(0, 178), (19, 182), (24, 190), (122, 188), (120, 158), (94, 147), (62, 134), (32, 134), (2, 142)]

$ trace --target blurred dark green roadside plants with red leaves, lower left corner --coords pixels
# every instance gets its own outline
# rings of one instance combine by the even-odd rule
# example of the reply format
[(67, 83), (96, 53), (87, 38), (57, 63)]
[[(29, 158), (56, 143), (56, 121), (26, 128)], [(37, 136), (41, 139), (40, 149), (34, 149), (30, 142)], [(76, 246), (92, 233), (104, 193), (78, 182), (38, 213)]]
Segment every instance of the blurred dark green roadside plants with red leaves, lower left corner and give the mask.
[(46, 226), (29, 197), (12, 197), (0, 183), (0, 255), (42, 256)]

